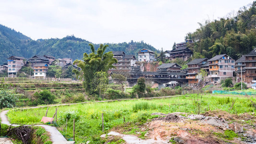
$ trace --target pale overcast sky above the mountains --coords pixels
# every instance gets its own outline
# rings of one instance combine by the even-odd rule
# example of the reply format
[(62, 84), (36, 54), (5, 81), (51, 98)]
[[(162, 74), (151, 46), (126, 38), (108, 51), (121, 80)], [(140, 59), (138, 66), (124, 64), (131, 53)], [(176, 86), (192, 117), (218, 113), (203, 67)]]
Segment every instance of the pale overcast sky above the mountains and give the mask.
[(253, 0), (1, 0), (0, 24), (31, 37), (74, 35), (92, 43), (141, 41), (164, 50), (206, 20)]

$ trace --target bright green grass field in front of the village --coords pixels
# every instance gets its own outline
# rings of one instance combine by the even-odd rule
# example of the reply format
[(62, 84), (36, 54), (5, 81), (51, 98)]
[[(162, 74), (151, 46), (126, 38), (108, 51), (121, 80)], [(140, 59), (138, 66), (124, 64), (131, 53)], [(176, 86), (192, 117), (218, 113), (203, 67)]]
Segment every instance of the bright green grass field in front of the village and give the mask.
[[(193, 99), (193, 101), (191, 100)], [(198, 100), (197, 100), (198, 99)], [(256, 98), (251, 97), (253, 101)], [(233, 104), (234, 102), (234, 104)], [(193, 105), (194, 104), (194, 105)], [(123, 117), (126, 122), (145, 123), (146, 120), (155, 116), (153, 112), (172, 113), (187, 112), (196, 113), (196, 104), (200, 105), (200, 113), (206, 111), (221, 109), (232, 114), (250, 113), (255, 109), (251, 102), (244, 96), (227, 95), (187, 95), (181, 97), (171, 97), (151, 100), (125, 100), (105, 103), (88, 103), (70, 106), (59, 106), (58, 108), (58, 129), (67, 138), (73, 136), (73, 119), (76, 125), (76, 142), (86, 143), (88, 140), (96, 143), (104, 143), (99, 136), (102, 132), (101, 114), (104, 114), (104, 130), (108, 132), (111, 128), (123, 124)], [(233, 104), (233, 107), (232, 107)], [(49, 107), (48, 117), (52, 117), (56, 107)], [(35, 109), (13, 109), (8, 112), (11, 123), (40, 123), (45, 116), (47, 108)], [(68, 119), (67, 134), (66, 120)]]

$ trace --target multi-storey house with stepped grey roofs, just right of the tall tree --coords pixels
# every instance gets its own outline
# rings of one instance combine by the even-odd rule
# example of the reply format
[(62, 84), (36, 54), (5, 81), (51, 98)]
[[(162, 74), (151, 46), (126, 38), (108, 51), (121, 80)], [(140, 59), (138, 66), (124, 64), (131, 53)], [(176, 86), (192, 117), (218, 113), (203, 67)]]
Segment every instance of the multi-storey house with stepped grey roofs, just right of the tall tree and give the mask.
[(113, 58), (117, 59), (117, 63), (114, 63), (113, 66), (116, 67), (109, 70), (110, 72), (129, 72), (131, 67), (135, 65), (136, 58), (134, 55), (126, 55), (123, 51), (113, 51)]

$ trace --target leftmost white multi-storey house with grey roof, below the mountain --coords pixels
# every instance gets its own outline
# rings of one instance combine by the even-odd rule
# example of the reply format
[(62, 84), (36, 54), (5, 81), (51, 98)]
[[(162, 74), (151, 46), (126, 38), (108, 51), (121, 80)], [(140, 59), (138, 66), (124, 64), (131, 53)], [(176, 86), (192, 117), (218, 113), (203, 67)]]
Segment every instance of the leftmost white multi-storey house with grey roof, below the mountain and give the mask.
[(11, 56), (8, 58), (8, 77), (17, 76), (17, 72), (24, 66), (24, 60), (26, 59), (18, 56)]

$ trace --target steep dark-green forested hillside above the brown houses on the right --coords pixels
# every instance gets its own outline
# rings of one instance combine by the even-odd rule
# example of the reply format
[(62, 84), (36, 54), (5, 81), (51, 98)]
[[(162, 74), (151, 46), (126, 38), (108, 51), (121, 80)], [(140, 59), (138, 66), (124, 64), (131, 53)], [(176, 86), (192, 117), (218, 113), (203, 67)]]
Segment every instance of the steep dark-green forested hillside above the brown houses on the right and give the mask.
[(194, 33), (188, 33), (195, 43), (191, 46), (194, 58), (212, 58), (227, 54), (237, 60), (256, 47), (256, 1), (248, 8), (243, 7), (228, 18), (200, 24)]

